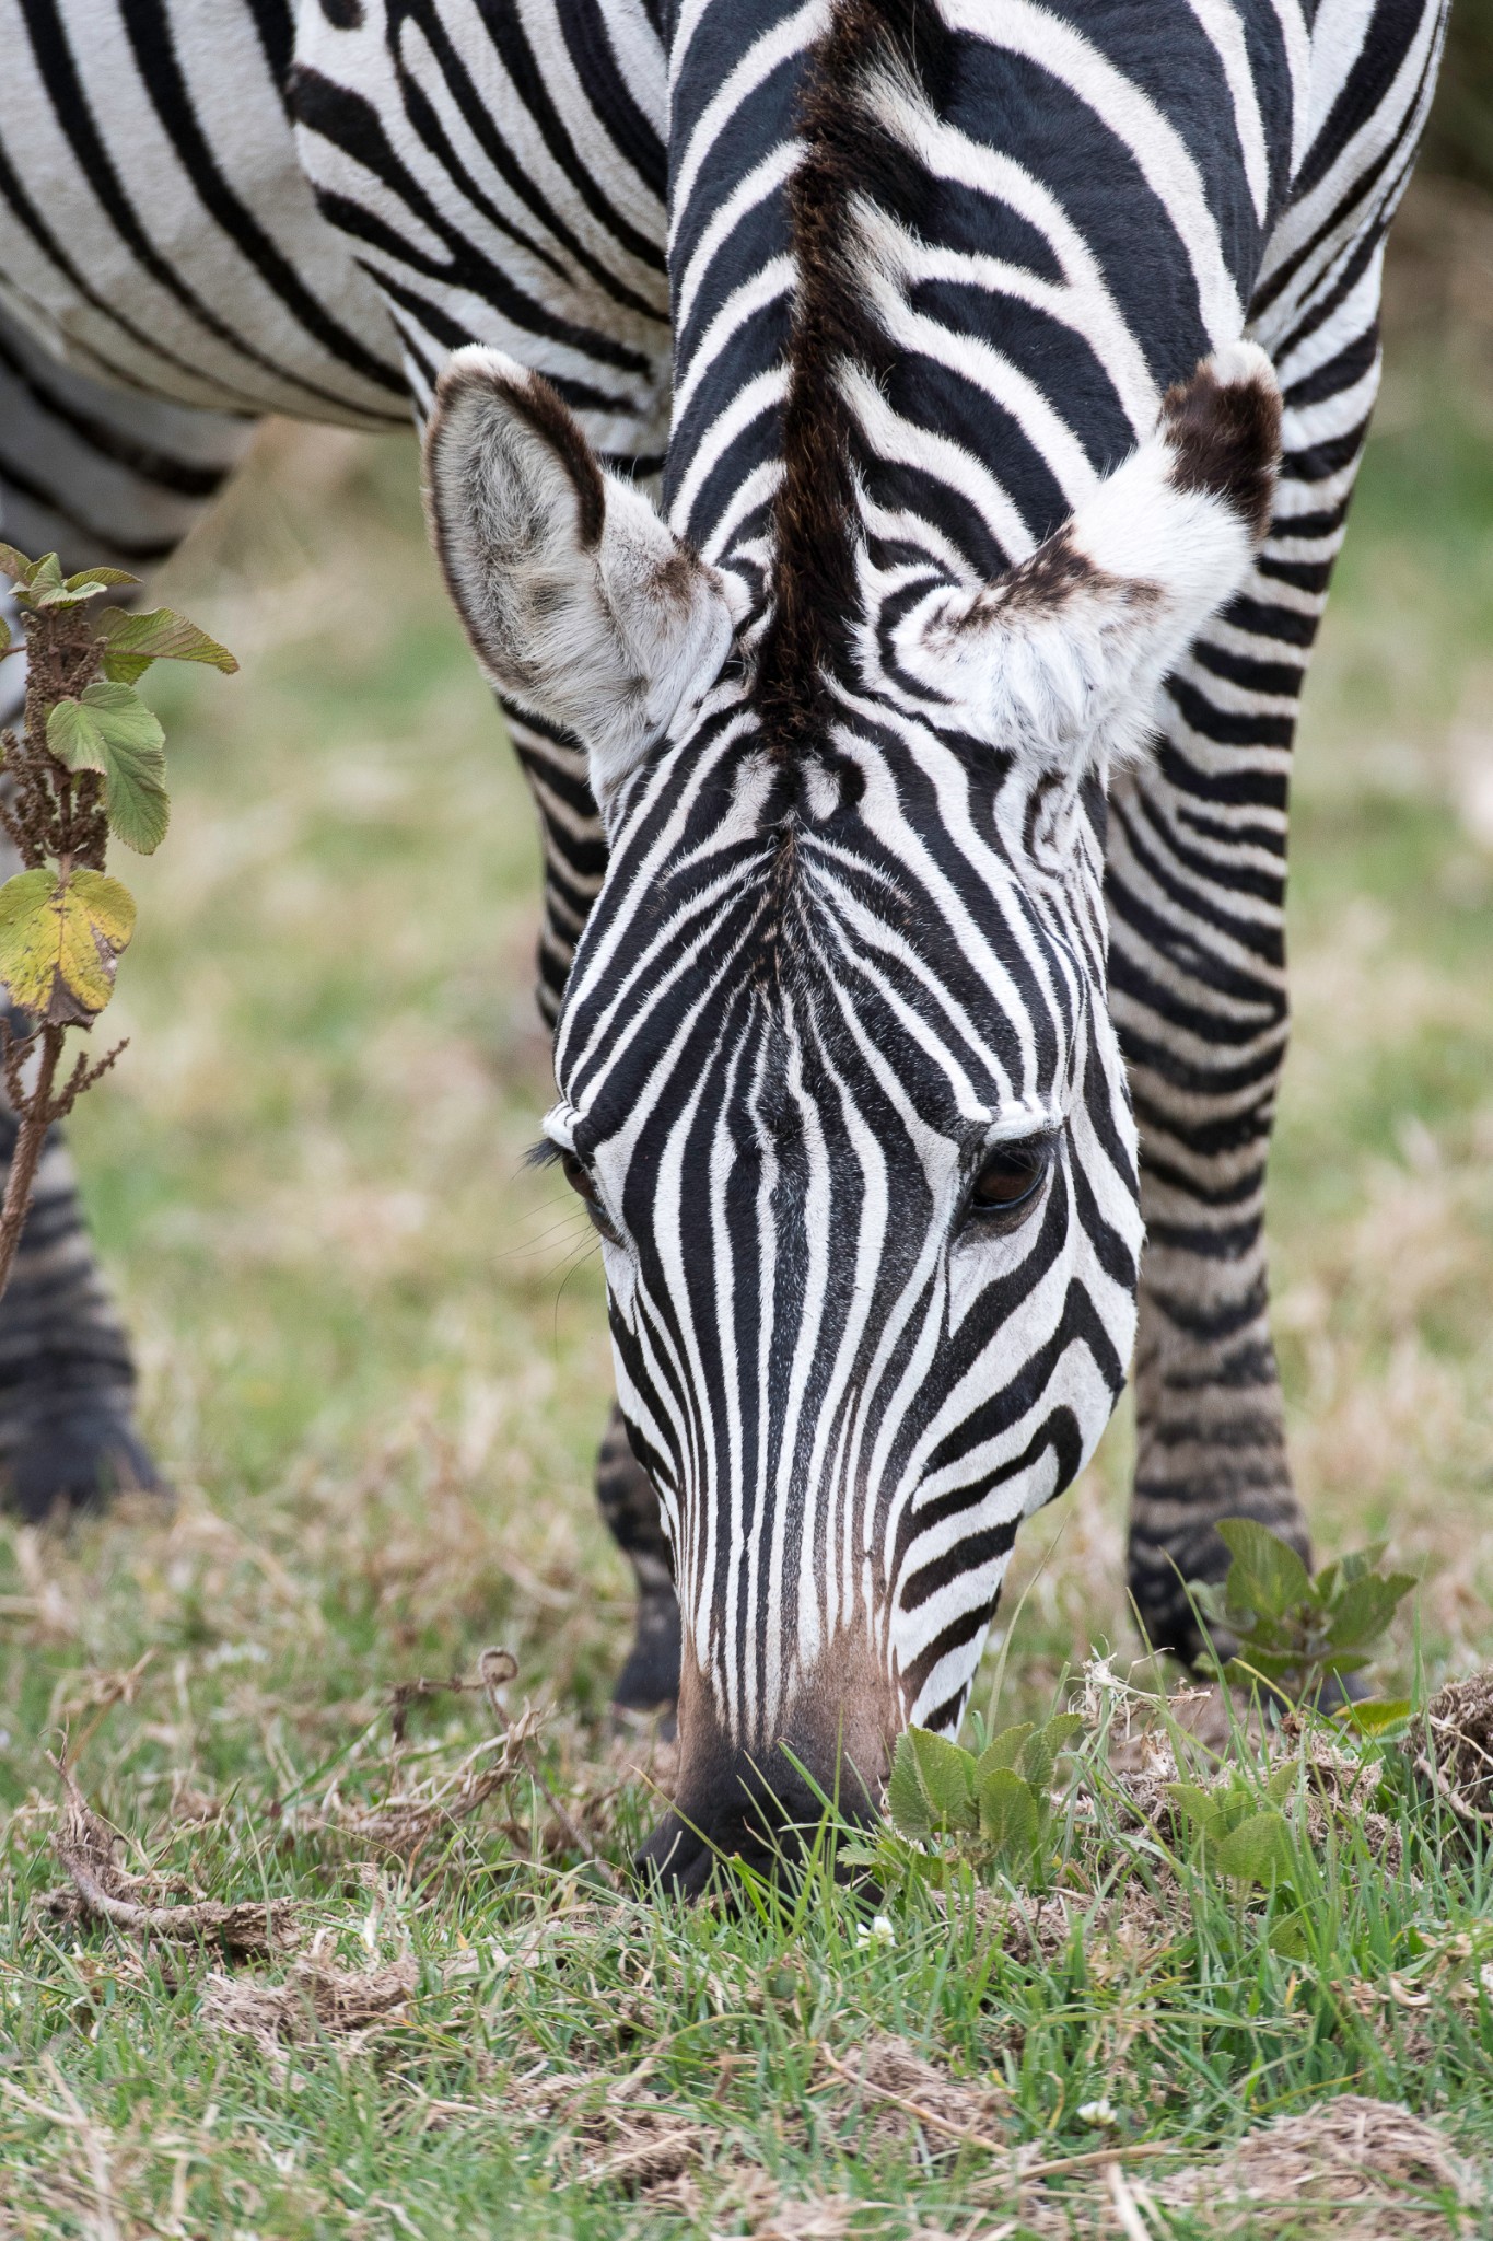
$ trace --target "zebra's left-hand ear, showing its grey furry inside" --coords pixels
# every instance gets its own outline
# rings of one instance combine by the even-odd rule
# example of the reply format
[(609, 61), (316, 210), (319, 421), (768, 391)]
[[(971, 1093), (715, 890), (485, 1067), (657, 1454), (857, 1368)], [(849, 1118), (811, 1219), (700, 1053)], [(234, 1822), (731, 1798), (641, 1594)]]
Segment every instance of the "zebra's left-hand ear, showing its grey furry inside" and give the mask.
[(564, 399), (459, 350), (425, 430), (430, 533), (492, 684), (589, 751), (602, 802), (714, 684), (732, 619), (712, 567), (607, 473)]

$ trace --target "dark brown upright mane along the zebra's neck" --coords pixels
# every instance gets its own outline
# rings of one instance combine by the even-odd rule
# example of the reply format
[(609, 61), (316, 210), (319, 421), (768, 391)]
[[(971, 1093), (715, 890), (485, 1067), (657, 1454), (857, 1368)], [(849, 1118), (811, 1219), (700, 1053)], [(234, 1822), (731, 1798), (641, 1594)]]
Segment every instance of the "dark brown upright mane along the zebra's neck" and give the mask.
[[(804, 157), (788, 188), (797, 296), (788, 336), (783, 475), (772, 504), (770, 621), (752, 697), (772, 753), (824, 737), (828, 679), (851, 672), (860, 603), (857, 424), (846, 374), (893, 363), (866, 289), (866, 204), (913, 213), (927, 177), (875, 114), (877, 81), (936, 92), (949, 34), (920, 0), (835, 0), (799, 101)], [(933, 83), (931, 83), (933, 81)]]

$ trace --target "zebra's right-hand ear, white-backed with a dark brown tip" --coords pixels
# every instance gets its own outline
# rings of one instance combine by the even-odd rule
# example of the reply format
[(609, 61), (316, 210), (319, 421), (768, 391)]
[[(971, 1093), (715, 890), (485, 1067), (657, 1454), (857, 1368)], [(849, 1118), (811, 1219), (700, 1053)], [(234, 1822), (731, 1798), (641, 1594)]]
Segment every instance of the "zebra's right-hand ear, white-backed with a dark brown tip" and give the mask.
[(1166, 392), (1155, 433), (1021, 567), (911, 610), (902, 663), (1034, 764), (1135, 757), (1168, 670), (1249, 574), (1278, 459), (1276, 370), (1233, 343)]

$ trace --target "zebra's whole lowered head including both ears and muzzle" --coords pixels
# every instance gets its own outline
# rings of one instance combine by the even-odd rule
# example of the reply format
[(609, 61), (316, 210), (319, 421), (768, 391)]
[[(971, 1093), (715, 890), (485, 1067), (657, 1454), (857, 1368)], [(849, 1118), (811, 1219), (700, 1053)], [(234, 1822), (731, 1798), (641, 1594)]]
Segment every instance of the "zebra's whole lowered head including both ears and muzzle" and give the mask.
[(766, 1800), (864, 1808), (907, 1721), (956, 1728), (1018, 1519), (1119, 1396), (1104, 782), (1238, 589), (1276, 446), (1238, 343), (1001, 580), (801, 486), (754, 585), (542, 379), (463, 350), (441, 381), (452, 594), (492, 681), (584, 742), (607, 827), (546, 1136), (674, 1551), (680, 1791), (647, 1858), (685, 1889), (761, 1853)]

